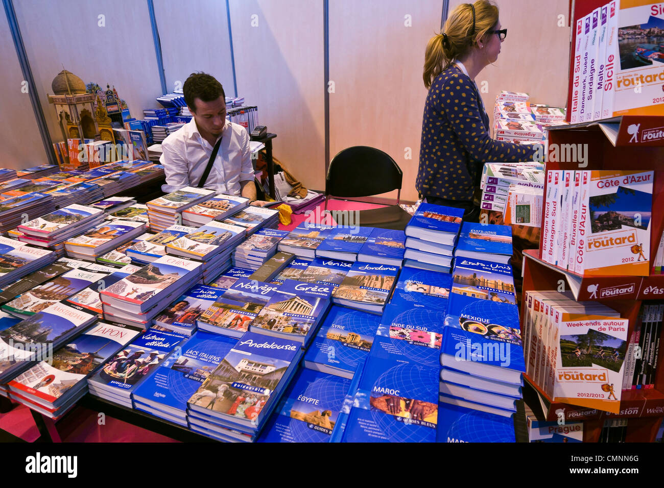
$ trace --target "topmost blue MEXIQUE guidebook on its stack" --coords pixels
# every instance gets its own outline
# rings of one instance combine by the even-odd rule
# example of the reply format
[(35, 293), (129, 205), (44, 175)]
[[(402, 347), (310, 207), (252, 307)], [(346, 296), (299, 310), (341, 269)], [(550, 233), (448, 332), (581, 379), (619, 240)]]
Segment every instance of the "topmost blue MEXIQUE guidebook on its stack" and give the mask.
[(519, 309), (478, 300), (461, 311), (457, 327), (445, 327), (440, 362), (447, 368), (511, 384), (525, 372)]

